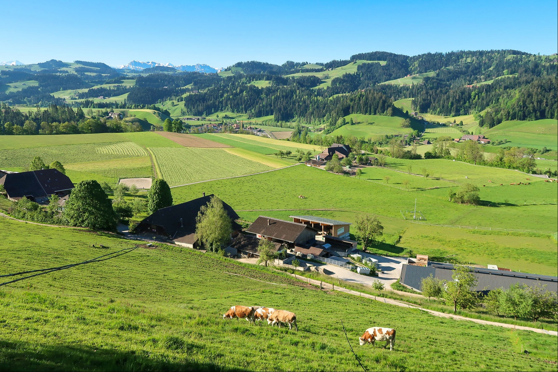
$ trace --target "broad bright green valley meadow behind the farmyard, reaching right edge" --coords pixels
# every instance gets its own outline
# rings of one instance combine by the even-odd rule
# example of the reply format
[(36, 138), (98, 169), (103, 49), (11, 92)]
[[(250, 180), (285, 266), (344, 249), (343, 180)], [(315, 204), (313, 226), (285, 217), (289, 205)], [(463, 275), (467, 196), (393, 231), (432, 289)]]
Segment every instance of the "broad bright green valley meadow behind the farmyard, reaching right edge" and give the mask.
[[(420, 173), (422, 167), (429, 168), (432, 172), (448, 172), (455, 164), (459, 166), (456, 167), (454, 172), (455, 178), (460, 184), (469, 181), (465, 179), (464, 175), (466, 174), (473, 177), (473, 183), (485, 182), (491, 186), (512, 179), (514, 182), (521, 180), (530, 182), (525, 180), (525, 175), (522, 173), (511, 170), (475, 167), (446, 160), (409, 162), (415, 162), (411, 164), (413, 172), (416, 173)], [(391, 159), (388, 160), (388, 163), (393, 167), (398, 166), (404, 172), (407, 171), (407, 163), (397, 165), (392, 163)], [(200, 192), (211, 192), (227, 201), (242, 218), (249, 220), (255, 219), (260, 214), (285, 218), (288, 210), (304, 210), (306, 212), (300, 214), (321, 216), (321, 213), (328, 213), (328, 215), (323, 216), (333, 219), (345, 218), (349, 222), (354, 222), (359, 213), (370, 213), (378, 215), (386, 226), (386, 244), (379, 246), (379, 249), (381, 249), (379, 252), (381, 253), (401, 255), (403, 250), (411, 248), (411, 245), (407, 243), (393, 245), (393, 241), (398, 241), (398, 236), (406, 237), (409, 239), (407, 242), (414, 241), (413, 247), (416, 248), (413, 249), (414, 253), (434, 252), (430, 251), (429, 245), (420, 247), (420, 234), (427, 234), (430, 229), (435, 229), (436, 232), (432, 234), (440, 236), (440, 241), (442, 241), (440, 245), (444, 247), (443, 252), (441, 248), (439, 250), (441, 256), (435, 256), (440, 257), (440, 259), (467, 259), (472, 263), (483, 265), (490, 262), (505, 262), (508, 267), (516, 270), (555, 274), (558, 255), (556, 243), (550, 238), (550, 234), (556, 232), (556, 194), (558, 190), (555, 182), (532, 181), (531, 185), (523, 186), (510, 186), (510, 182), (508, 182), (507, 186), (493, 187), (483, 187), (480, 184), (481, 199), (492, 203), (493, 206), (470, 206), (448, 201), (449, 188), (443, 186), (448, 186), (450, 182), (424, 179), (418, 181), (419, 177), (417, 176), (407, 176), (404, 173), (398, 173), (394, 176), (393, 173), (395, 172), (392, 171), (392, 173), (386, 173), (393, 177), (394, 182), (402, 182), (402, 179), (398, 180), (397, 177), (409, 177), (409, 190), (412, 190), (413, 183), (418, 185), (417, 182), (428, 182), (427, 186), (440, 187), (442, 185), (443, 187), (424, 191), (406, 191), (402, 183), (401, 185), (386, 184), (383, 181), (383, 175), (379, 177), (380, 172), (390, 171), (381, 170), (377, 172), (371, 170), (370, 172), (369, 175), (378, 174), (377, 177), (371, 178), (381, 178), (381, 180), (376, 179), (373, 182), (364, 179), (358, 180), (355, 177), (333, 175), (316, 168), (296, 166), (261, 175), (177, 187), (172, 189), (172, 194), (175, 202), (183, 202), (196, 197)], [(479, 176), (475, 176), (477, 173), (479, 173)], [(494, 183), (490, 184), (486, 182), (487, 178), (482, 179), (487, 175), (494, 180), (501, 181), (496, 183), (493, 180)], [(287, 182), (286, 180), (296, 180), (296, 182)], [(258, 185), (258, 187), (254, 188), (253, 185)], [(323, 192), (316, 193), (316, 185), (335, 185), (335, 187), (328, 189), (324, 194)], [(235, 190), (251, 190), (251, 197), (246, 198)], [(274, 197), (270, 198), (268, 195), (274, 195)], [(306, 198), (300, 199), (299, 195), (304, 195)], [(324, 195), (326, 196), (324, 197)], [(528, 195), (531, 196), (525, 199)], [(404, 220), (401, 211), (412, 210), (415, 206), (415, 199), (417, 199), (417, 210), (425, 215), (428, 224), (453, 225), (455, 228), (434, 228), (424, 224), (416, 225), (412, 221)], [(324, 209), (333, 209), (334, 211), (326, 212), (323, 211)], [(336, 209), (346, 212), (338, 212), (335, 211)], [(288, 215), (286, 216), (288, 217)], [(504, 247), (502, 244), (502, 250), (496, 248), (480, 253), (475, 250), (475, 254), (471, 254), (469, 249), (473, 249), (477, 247), (477, 244), (485, 241), (486, 236), (472, 235), (470, 241), (463, 240), (459, 244), (455, 244), (456, 239), (453, 236), (456, 231), (460, 230), (459, 225), (487, 229), (532, 230), (534, 235), (522, 235), (522, 238), (517, 239), (516, 243), (513, 243), (510, 239), (506, 243), (510, 245)], [(419, 227), (411, 229), (411, 226)], [(487, 233), (491, 234), (490, 231), (487, 231)], [(494, 234), (513, 235), (514, 233), (496, 231)], [(530, 247), (533, 250), (529, 259), (525, 258), (522, 251), (523, 247)], [(511, 248), (514, 248), (512, 249), (513, 252), (510, 251)]]

